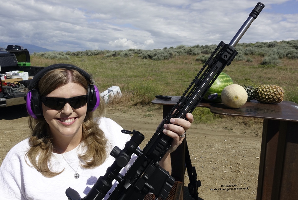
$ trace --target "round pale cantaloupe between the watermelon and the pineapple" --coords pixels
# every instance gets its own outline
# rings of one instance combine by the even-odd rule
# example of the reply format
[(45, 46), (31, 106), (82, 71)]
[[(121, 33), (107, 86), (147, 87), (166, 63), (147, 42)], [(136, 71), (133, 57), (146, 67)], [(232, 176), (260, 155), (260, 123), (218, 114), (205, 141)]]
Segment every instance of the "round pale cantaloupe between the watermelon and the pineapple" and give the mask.
[(227, 107), (240, 108), (247, 101), (247, 93), (241, 85), (231, 84), (221, 92), (221, 100)]

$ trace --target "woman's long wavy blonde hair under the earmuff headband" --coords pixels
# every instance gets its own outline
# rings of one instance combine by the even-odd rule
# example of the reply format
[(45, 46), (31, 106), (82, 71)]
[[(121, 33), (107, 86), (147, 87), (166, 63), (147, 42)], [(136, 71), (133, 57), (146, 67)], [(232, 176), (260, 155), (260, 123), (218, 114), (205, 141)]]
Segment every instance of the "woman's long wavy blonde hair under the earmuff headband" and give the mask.
[[(86, 78), (73, 69), (54, 69), (47, 72), (38, 82), (35, 87), (39, 91), (40, 96), (46, 96), (58, 87), (67, 83), (77, 83), (83, 86), (88, 91), (89, 83)], [(103, 116), (105, 113), (105, 102), (100, 101), (97, 108), (98, 115)], [(100, 166), (107, 158), (106, 151), (108, 140), (104, 133), (98, 127), (97, 122), (94, 120), (93, 112), (87, 112), (86, 117), (82, 124), (82, 140), (81, 143), (86, 147), (86, 152), (79, 155), (80, 159), (84, 160), (81, 164), (84, 168), (94, 168)], [(52, 144), (52, 135), (46, 120), (42, 117), (34, 119), (29, 116), (29, 128), (32, 131), (29, 137), (29, 151), (26, 157), (29, 159), (35, 169), (46, 177), (53, 177), (61, 172), (51, 171), (51, 157), (54, 150)]]

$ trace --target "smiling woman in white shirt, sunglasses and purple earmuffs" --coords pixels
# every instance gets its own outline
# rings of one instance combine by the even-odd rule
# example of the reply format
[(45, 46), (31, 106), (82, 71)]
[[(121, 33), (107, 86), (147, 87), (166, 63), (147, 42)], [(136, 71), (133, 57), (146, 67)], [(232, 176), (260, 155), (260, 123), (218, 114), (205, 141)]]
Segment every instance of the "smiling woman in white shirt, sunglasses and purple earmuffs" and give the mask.
[[(56, 64), (40, 71), (29, 85), (27, 110), (31, 136), (14, 146), (0, 167), (1, 199), (66, 199), (65, 190), (86, 196), (114, 162), (112, 148), (120, 149), (130, 136), (103, 117), (103, 101), (90, 75), (80, 68)], [(100, 117), (93, 117), (99, 107)], [(170, 171), (169, 153), (183, 141), (193, 116), (172, 118), (164, 134), (172, 146), (160, 161)], [(136, 155), (121, 170), (125, 174)], [(110, 191), (115, 188), (115, 181)], [(108, 193), (109, 194), (109, 193)], [(107, 196), (105, 197), (107, 198)]]

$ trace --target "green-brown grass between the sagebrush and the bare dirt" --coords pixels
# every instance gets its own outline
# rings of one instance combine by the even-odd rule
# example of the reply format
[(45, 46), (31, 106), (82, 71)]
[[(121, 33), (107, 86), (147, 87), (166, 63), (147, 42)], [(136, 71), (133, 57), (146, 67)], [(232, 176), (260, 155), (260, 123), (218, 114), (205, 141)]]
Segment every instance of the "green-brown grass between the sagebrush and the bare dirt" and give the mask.
[[(68, 63), (79, 66), (96, 81), (100, 91), (119, 86), (124, 98), (117, 103), (124, 106), (150, 105), (155, 95), (181, 96), (199, 72), (202, 63), (197, 56), (183, 55), (168, 60), (154, 61), (132, 57), (69, 56), (70, 59), (50, 59), (37, 55), (31, 57), (31, 66), (48, 66)], [(249, 61), (234, 60), (224, 71), (235, 84), (257, 86), (275, 84), (285, 90), (284, 100), (298, 103), (297, 59), (281, 59), (278, 65), (260, 65), (264, 57), (246, 56)], [(196, 121), (212, 122), (216, 116), (209, 109), (196, 108)], [(146, 116), (149, 117), (149, 116)]]

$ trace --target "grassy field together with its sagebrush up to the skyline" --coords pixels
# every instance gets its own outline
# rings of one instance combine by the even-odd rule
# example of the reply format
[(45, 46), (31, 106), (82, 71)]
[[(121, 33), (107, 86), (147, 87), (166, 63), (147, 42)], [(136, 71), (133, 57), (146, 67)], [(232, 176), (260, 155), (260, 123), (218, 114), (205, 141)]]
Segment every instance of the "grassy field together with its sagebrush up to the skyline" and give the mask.
[[(276, 48), (268, 48), (268, 46), (271, 47), (271, 43), (263, 44), (267, 48), (251, 47), (261, 46), (260, 44), (239, 44), (241, 51), (239, 50), (235, 60), (230, 66), (226, 66), (223, 72), (227, 73), (235, 84), (246, 86), (279, 85), (285, 90), (284, 100), (297, 103), (298, 44), (296, 44), (296, 40), (291, 43), (295, 45), (292, 44), (291, 48), (286, 48), (287, 50), (282, 49), (284, 43), (278, 44), (279, 46)], [(244, 48), (244, 46), (248, 47)], [(60, 55), (61, 52), (49, 52), (48, 55), (39, 53), (33, 55), (31, 65), (48, 66), (54, 63), (69, 63), (80, 66), (93, 75), (101, 91), (112, 85), (117, 85), (125, 94), (125, 104), (146, 105), (156, 94), (176, 96), (183, 94), (203, 66), (206, 57), (210, 56), (214, 46), (194, 47), (183, 47), (183, 49), (177, 47), (175, 51), (169, 51), (171, 49), (169, 48), (160, 50), (161, 52), (132, 49), (114, 53), (104, 51), (94, 53), (96, 51), (94, 50), (93, 53), (88, 51), (66, 52), (63, 53), (63, 56)], [(204, 50), (206, 48), (207, 50)], [(255, 51), (251, 52), (251, 49)], [(236, 50), (238, 49), (236, 48)], [(276, 52), (277, 50), (283, 50), (285, 53)], [(205, 53), (209, 53), (208, 56)], [(177, 55), (170, 58), (160, 56), (164, 54)], [(291, 59), (290, 55), (292, 55)], [(56, 57), (56, 59), (48, 57)], [(162, 58), (156, 60), (156, 57)]]

